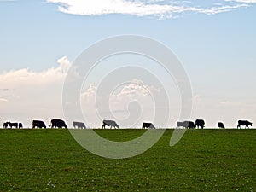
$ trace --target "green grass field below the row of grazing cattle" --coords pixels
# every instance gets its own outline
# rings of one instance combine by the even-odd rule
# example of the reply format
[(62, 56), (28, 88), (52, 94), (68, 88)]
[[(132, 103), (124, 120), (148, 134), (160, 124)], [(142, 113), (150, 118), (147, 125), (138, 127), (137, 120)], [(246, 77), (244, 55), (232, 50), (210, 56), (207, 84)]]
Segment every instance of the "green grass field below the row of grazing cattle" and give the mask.
[[(143, 130), (98, 130), (123, 141)], [(0, 191), (255, 191), (256, 130), (172, 130), (125, 160), (90, 154), (67, 130), (0, 130)]]

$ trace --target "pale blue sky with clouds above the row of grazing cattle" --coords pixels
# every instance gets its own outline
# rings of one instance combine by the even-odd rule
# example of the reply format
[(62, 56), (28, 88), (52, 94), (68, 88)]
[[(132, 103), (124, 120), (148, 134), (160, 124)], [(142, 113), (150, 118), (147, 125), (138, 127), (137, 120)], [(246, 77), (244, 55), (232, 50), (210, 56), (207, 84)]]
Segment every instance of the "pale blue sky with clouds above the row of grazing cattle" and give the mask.
[[(177, 55), (193, 92), (189, 119), (205, 119), (207, 127), (218, 121), (236, 127), (238, 119), (254, 124), (255, 23), (255, 0), (0, 0), (0, 124), (19, 121), (31, 127), (32, 119), (47, 125), (50, 119), (67, 119), (62, 89), (73, 61), (90, 45), (126, 34), (152, 38)], [(140, 67), (143, 74), (129, 71), (131, 79), (125, 84), (105, 89), (102, 94), (109, 106), (103, 108), (96, 100), (106, 80), (102, 77), (109, 79), (111, 70), (127, 66)], [(148, 78), (151, 73), (156, 79)], [(119, 73), (114, 75), (120, 78)], [(84, 119), (76, 120), (88, 127), (100, 127), (102, 119), (140, 127), (143, 121), (154, 122), (155, 113), (165, 121), (168, 108), (168, 123), (155, 126), (174, 127), (178, 120), (187, 120), (179, 119), (176, 85), (155, 61), (113, 55), (84, 82), (80, 93)], [(163, 90), (169, 106), (155, 110), (160, 107), (152, 96), (164, 98)]]

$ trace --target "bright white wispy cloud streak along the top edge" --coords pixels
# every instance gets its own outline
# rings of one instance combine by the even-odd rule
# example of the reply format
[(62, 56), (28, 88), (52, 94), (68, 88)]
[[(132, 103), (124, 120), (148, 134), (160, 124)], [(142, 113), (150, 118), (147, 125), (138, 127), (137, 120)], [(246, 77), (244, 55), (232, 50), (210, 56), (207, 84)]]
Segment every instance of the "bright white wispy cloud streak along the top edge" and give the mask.
[(156, 16), (160, 19), (170, 18), (173, 15), (189, 12), (214, 15), (241, 7), (247, 7), (247, 3), (255, 3), (255, 0), (236, 0), (227, 4), (220, 1), (207, 8), (192, 5), (190, 2), (153, 0), (47, 0), (48, 3), (58, 4), (59, 11), (72, 15), (137, 15)]

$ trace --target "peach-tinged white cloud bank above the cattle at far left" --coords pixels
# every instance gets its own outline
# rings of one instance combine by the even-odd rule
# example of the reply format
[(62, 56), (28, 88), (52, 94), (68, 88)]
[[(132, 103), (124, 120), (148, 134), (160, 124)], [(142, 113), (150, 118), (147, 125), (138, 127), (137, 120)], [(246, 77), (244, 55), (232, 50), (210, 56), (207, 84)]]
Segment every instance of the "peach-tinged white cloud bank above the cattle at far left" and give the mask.
[(59, 66), (41, 72), (23, 68), (0, 74), (0, 121), (16, 119), (31, 126), (33, 118), (47, 123), (61, 118), (62, 85), (70, 63), (67, 57), (57, 62)]

